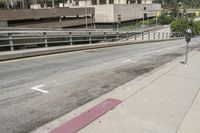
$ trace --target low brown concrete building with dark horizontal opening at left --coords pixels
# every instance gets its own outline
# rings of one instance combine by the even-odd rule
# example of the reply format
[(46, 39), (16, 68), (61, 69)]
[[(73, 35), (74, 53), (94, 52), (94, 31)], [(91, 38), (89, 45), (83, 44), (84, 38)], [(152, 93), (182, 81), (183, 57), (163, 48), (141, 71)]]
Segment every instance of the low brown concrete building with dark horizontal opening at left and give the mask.
[(95, 10), (88, 8), (16, 9), (1, 10), (0, 27), (63, 28), (93, 25)]

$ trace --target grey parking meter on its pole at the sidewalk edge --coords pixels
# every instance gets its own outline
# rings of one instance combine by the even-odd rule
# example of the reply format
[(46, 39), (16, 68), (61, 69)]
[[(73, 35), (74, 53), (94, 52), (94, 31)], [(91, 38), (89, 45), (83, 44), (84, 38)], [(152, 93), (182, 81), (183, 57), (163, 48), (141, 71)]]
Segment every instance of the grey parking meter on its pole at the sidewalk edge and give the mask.
[(188, 49), (189, 49), (189, 42), (191, 41), (192, 38), (192, 30), (187, 29), (185, 33), (185, 41), (187, 42), (186, 44), (186, 50), (185, 50), (185, 66), (188, 64)]

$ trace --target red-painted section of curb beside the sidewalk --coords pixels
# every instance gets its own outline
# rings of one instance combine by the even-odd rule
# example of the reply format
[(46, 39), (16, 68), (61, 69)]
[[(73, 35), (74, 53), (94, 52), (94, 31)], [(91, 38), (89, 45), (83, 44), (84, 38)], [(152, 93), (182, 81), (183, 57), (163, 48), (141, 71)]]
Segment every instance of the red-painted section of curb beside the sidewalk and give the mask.
[(55, 128), (54, 130), (50, 131), (49, 133), (75, 133), (80, 129), (86, 127), (97, 118), (101, 117), (108, 111), (115, 108), (119, 105), (122, 101), (117, 99), (107, 99), (102, 103), (92, 107), (91, 109), (83, 112), (82, 114), (78, 115), (77, 117), (67, 121), (63, 125)]

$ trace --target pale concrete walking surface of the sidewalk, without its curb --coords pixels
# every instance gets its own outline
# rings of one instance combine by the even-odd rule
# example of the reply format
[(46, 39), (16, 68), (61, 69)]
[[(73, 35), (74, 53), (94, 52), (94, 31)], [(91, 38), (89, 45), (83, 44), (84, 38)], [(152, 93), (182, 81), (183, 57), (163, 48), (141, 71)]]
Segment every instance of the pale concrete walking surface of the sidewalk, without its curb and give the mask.
[(188, 67), (177, 64), (80, 132), (199, 133), (199, 88), (200, 51)]

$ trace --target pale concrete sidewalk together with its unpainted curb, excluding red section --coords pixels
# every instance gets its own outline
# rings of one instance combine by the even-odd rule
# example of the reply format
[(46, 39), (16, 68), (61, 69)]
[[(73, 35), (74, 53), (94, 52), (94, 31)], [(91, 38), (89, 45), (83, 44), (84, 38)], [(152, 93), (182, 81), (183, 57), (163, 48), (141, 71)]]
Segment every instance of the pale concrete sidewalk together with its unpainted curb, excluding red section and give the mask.
[(167, 63), (33, 132), (47, 133), (108, 98), (122, 101), (80, 133), (199, 133), (200, 51)]

